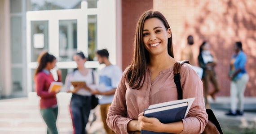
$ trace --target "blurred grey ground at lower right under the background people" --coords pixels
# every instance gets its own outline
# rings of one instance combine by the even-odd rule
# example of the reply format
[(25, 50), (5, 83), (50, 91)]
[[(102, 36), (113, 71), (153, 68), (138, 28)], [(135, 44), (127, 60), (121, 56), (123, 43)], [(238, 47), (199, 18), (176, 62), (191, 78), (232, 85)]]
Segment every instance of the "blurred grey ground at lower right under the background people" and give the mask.
[(230, 110), (229, 97), (208, 98), (224, 134), (256, 134), (256, 97), (246, 97), (243, 116), (226, 116)]

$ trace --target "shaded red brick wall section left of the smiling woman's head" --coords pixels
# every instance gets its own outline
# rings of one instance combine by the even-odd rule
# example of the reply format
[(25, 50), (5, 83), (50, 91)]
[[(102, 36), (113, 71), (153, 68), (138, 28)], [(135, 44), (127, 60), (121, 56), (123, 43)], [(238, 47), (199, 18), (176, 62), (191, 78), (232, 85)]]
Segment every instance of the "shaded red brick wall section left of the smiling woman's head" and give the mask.
[(131, 64), (133, 38), (140, 15), (153, 8), (153, 0), (122, 0), (122, 67)]

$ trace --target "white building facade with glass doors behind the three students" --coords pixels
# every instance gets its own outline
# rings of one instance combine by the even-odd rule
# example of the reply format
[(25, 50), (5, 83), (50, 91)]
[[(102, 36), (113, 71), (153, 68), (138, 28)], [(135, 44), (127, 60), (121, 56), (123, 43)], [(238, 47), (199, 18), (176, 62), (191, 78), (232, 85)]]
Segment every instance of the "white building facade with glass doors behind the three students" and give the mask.
[(95, 50), (106, 48), (121, 67), (121, 47), (120, 0), (0, 0), (0, 95), (35, 91), (36, 59), (44, 50), (57, 57), (64, 82), (77, 51), (97, 69)]

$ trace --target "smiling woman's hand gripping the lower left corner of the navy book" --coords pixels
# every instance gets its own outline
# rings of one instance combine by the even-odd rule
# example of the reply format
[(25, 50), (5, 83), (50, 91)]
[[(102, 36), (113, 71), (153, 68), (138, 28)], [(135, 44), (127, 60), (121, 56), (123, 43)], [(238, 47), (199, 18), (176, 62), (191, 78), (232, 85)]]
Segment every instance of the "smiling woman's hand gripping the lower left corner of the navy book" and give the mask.
[(157, 118), (145, 117), (143, 113), (139, 114), (139, 125), (141, 130), (149, 130), (154, 132), (161, 132), (163, 123), (161, 123)]

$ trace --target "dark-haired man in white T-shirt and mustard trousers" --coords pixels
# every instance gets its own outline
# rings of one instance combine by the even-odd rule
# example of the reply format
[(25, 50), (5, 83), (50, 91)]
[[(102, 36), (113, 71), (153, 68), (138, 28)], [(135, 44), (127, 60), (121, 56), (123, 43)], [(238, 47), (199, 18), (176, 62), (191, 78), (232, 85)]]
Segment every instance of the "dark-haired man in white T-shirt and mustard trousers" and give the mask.
[(102, 86), (102, 89), (95, 90), (93, 94), (100, 95), (99, 104), (101, 106), (101, 115), (106, 134), (115, 134), (106, 123), (108, 109), (114, 99), (115, 90), (119, 84), (119, 81), (122, 77), (122, 70), (120, 67), (112, 65), (109, 61), (108, 50), (102, 49), (98, 50), (96, 53), (97, 59), (100, 64), (105, 64), (101, 71), (99, 71), (99, 87)]

